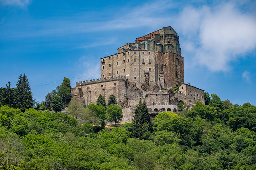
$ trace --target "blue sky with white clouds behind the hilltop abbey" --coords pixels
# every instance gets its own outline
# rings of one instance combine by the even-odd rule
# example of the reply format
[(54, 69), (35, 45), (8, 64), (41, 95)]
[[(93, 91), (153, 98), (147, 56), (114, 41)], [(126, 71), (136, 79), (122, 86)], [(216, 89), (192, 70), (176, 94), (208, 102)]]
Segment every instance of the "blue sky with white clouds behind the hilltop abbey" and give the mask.
[(162, 27), (180, 37), (185, 82), (256, 105), (256, 2), (0, 0), (0, 86), (26, 74), (44, 100), (64, 77), (100, 78), (100, 58)]

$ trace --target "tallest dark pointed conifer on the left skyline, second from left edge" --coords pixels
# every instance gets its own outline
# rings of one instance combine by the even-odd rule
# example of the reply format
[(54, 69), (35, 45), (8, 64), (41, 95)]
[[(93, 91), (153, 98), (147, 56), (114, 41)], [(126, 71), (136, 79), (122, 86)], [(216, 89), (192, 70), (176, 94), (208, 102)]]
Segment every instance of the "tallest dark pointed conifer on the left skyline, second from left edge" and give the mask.
[(33, 106), (33, 95), (26, 74), (23, 76), (20, 74), (14, 94), (16, 107), (18, 107), (22, 112)]

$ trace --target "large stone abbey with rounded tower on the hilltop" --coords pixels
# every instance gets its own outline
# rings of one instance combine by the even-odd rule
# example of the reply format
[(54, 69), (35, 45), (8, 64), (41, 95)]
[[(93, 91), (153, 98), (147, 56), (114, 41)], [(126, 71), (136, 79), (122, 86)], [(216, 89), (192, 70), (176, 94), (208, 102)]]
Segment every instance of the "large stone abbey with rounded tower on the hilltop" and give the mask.
[[(123, 121), (131, 121), (139, 100), (146, 102), (151, 114), (176, 112), (179, 102), (191, 107), (195, 102), (204, 104), (204, 90), (184, 83), (179, 37), (170, 26), (126, 43), (100, 63), (101, 78), (76, 82), (71, 96), (82, 98), (88, 105), (96, 103), (100, 94), (106, 102), (114, 94), (123, 108)], [(174, 87), (179, 89), (174, 91)]]

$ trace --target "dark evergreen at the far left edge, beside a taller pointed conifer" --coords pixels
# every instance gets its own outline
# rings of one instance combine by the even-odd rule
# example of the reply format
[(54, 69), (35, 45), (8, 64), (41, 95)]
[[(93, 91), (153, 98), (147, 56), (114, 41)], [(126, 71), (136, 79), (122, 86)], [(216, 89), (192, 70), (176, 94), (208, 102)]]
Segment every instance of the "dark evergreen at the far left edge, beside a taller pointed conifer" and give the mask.
[(0, 103), (4, 106), (9, 106), (16, 108), (15, 106), (15, 98), (14, 98), (14, 93), (15, 93), (15, 88), (11, 88), (11, 82), (8, 82), (8, 85), (5, 87), (0, 88)]

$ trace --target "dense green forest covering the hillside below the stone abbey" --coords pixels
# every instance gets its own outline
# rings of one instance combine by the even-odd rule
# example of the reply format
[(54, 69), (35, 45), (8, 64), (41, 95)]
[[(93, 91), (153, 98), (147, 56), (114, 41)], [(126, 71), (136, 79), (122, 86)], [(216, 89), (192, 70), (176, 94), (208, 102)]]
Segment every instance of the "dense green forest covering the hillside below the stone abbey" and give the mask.
[[(197, 102), (188, 109), (180, 103), (178, 113), (161, 112), (151, 119), (140, 101), (132, 123), (105, 128), (107, 120), (116, 123), (122, 117), (115, 99), (106, 106), (99, 96), (97, 104), (85, 106), (73, 98), (61, 113), (69, 98), (64, 80), (64, 90), (46, 95), (41, 105), (46, 111), (17, 105), (15, 91), (22, 83), (1, 88), (0, 169), (256, 169), (256, 107), (250, 103), (233, 105), (206, 93), (207, 105)], [(23, 87), (30, 94), (29, 86)]]

